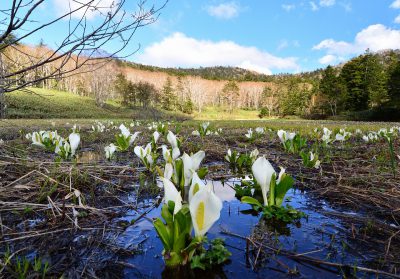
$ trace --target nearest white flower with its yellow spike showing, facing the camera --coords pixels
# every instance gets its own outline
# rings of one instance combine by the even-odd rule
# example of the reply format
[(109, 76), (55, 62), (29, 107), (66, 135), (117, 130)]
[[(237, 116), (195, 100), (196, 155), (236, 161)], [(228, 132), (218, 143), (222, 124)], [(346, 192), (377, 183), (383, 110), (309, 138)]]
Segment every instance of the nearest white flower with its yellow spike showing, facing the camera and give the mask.
[(219, 219), (222, 201), (211, 191), (211, 185), (199, 190), (189, 204), (196, 237), (204, 236)]

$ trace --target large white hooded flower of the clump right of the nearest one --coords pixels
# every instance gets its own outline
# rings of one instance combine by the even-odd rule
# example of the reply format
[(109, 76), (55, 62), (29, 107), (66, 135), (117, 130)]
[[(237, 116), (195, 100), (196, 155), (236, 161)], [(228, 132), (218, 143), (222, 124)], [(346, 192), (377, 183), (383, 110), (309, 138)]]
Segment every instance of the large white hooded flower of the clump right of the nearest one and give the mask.
[(268, 205), (267, 193), (271, 184), (271, 179), (276, 174), (271, 163), (264, 156), (258, 158), (251, 167), (254, 178), (260, 184), (263, 195), (264, 205)]

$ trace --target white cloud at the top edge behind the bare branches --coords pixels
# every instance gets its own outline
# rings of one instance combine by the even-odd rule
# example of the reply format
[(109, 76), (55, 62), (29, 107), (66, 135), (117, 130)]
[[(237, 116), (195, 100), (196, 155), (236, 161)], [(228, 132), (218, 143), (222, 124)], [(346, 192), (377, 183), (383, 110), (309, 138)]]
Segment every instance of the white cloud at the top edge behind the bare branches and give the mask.
[(84, 16), (86, 19), (93, 19), (113, 10), (115, 2), (115, 0), (53, 0), (53, 5), (59, 16), (78, 9), (71, 14), (72, 18), (80, 19)]

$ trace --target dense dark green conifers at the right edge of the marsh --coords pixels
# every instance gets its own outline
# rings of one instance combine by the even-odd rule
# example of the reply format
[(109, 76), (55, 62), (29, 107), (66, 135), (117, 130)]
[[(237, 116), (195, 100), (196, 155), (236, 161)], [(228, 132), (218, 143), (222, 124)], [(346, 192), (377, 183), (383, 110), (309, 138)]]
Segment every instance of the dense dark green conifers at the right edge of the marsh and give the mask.
[[(380, 114), (398, 111), (399, 53), (371, 53), (367, 50), (341, 68), (328, 66), (322, 72), (318, 93), (319, 105), (315, 110), (325, 115), (369, 112), (372, 118), (382, 118), (384, 115)], [(394, 118), (399, 116), (399, 113), (393, 115)]]

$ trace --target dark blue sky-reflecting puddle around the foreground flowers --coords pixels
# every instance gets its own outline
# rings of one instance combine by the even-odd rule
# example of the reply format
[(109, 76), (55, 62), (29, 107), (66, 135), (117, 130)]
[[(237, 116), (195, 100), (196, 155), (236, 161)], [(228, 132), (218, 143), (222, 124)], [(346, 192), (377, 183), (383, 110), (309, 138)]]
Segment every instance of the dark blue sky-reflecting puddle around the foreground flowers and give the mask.
[[(227, 184), (233, 185), (233, 181)], [(232, 234), (249, 236), (256, 229), (258, 232), (276, 232), (271, 238), (271, 246), (292, 251), (307, 253), (308, 256), (325, 261), (364, 266), (372, 259), (367, 250), (354, 246), (350, 239), (348, 229), (341, 224), (339, 219), (331, 215), (318, 212), (335, 212), (329, 205), (316, 203), (307, 193), (291, 191), (288, 193), (286, 203), (308, 215), (297, 224), (277, 225), (269, 224), (261, 216), (251, 214), (250, 206), (240, 203), (235, 198), (234, 190), (220, 182), (214, 182), (215, 193), (223, 200), (223, 209), (220, 220), (208, 232), (208, 238), (224, 238), (226, 245), (232, 253), (231, 261), (222, 268), (207, 273), (197, 271), (168, 271), (161, 256), (163, 250), (161, 241), (153, 229), (152, 219), (160, 216), (161, 205), (151, 210), (146, 218), (140, 219), (131, 225), (125, 233), (119, 236), (117, 242), (124, 248), (140, 247), (141, 253), (125, 259), (131, 267), (124, 270), (125, 278), (287, 278), (289, 271), (298, 270), (300, 278), (338, 278), (337, 269), (312, 266), (305, 262), (294, 261), (282, 255), (261, 254), (257, 258), (257, 265), (253, 267), (257, 251), (246, 253), (246, 240), (226, 235)], [(149, 206), (152, 200), (144, 200)], [(144, 208), (143, 211), (148, 210)], [(123, 220), (130, 221), (141, 215), (142, 212), (128, 212)], [(258, 250), (258, 249), (257, 249)], [(268, 251), (268, 250), (264, 250)], [(357, 274), (368, 277), (372, 275)]]

